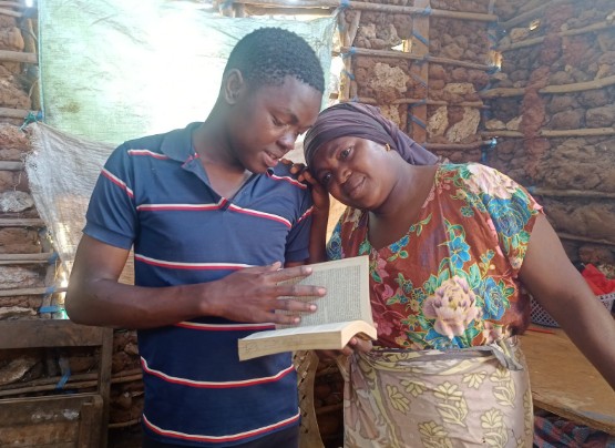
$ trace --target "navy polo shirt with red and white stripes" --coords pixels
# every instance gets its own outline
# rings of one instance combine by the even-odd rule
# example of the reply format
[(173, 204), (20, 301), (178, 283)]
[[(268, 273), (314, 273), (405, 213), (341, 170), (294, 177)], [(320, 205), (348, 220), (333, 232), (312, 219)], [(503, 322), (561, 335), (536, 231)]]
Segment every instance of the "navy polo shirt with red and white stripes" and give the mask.
[[(278, 164), (229, 201), (209, 185), (192, 145), (201, 123), (125, 142), (109, 157), (84, 233), (134, 246), (135, 284), (211, 282), (247, 266), (308, 257), (311, 198)], [(202, 317), (139, 330), (147, 435), (223, 447), (298, 425), (289, 353), (239, 362), (237, 339), (270, 324)]]

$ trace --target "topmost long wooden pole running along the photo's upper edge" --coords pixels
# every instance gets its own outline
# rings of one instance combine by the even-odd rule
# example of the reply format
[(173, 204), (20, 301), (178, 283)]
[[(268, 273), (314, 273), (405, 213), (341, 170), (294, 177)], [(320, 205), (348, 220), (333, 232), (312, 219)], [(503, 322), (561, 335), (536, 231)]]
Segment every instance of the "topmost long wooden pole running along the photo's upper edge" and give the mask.
[[(235, 0), (235, 3), (246, 3), (255, 4), (259, 7), (275, 6), (275, 7), (288, 7), (286, 0)], [(341, 6), (340, 1), (335, 0), (296, 0), (293, 2), (291, 8), (339, 8)], [(412, 16), (430, 16), (438, 18), (448, 19), (459, 19), (459, 20), (476, 20), (481, 22), (496, 22), (498, 16), (494, 14), (482, 14), (476, 12), (462, 12), (462, 11), (447, 11), (443, 9), (429, 9), (414, 7), (398, 7), (394, 4), (381, 4), (381, 3), (369, 3), (360, 1), (349, 1), (347, 6), (350, 9), (363, 10), (363, 11), (379, 11), (379, 12), (390, 12), (393, 14), (412, 14)]]

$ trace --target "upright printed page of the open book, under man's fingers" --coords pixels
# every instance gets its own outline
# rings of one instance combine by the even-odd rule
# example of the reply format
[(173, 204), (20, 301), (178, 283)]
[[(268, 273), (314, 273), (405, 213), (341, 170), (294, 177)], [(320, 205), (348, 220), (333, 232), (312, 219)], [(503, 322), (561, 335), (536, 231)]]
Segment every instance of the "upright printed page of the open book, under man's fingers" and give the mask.
[[(327, 288), (324, 297), (293, 297), (304, 302), (314, 302), (316, 313), (301, 314), (300, 327), (336, 322), (365, 320), (373, 324), (369, 303), (369, 264), (367, 255), (336, 259), (310, 265), (312, 274), (301, 281), (293, 279), (285, 284), (316, 285)], [(286, 299), (288, 297), (280, 297)], [(290, 314), (286, 310), (277, 313)], [(296, 328), (278, 326), (277, 328)]]

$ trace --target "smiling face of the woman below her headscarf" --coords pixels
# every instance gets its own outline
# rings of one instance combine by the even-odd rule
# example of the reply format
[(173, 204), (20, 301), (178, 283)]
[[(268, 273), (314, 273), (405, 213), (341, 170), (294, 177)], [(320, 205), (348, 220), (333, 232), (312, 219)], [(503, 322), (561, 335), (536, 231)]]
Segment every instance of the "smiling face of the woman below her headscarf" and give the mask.
[(340, 136), (318, 149), (310, 171), (336, 200), (356, 208), (376, 210), (392, 187), (393, 173), (387, 169), (392, 153), (371, 140)]

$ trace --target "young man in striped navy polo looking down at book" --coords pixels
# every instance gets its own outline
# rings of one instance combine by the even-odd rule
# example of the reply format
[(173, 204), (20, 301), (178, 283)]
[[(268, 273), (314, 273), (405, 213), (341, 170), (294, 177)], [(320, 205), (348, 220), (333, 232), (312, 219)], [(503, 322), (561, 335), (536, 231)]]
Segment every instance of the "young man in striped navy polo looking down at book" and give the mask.
[[(66, 310), (139, 329), (145, 447), (297, 446), (290, 354), (239, 362), (237, 339), (316, 309), (279, 297), (325, 293), (278, 285), (310, 273), (300, 266), (310, 195), (278, 160), (316, 120), (322, 92), (314, 50), (259, 29), (230, 53), (204, 123), (126, 142), (106, 162)], [(117, 282), (132, 246), (134, 286)]]

